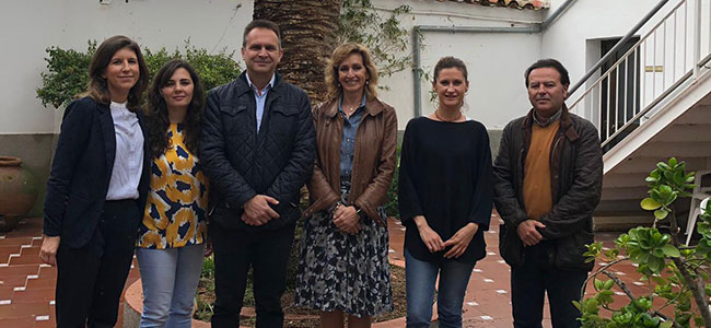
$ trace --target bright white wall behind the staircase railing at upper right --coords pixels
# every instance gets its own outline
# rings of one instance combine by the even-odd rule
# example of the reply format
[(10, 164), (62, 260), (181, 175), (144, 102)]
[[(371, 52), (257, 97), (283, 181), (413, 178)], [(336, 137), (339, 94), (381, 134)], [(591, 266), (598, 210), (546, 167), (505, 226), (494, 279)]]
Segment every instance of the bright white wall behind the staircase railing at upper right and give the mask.
[[(562, 0), (556, 0), (553, 5), (560, 5)], [(571, 82), (575, 84), (583, 74), (592, 68), (601, 58), (601, 42), (606, 39), (618, 39), (626, 35), (638, 22), (640, 22), (660, 1), (658, 0), (626, 0), (613, 1), (576, 1), (566, 14), (551, 26), (543, 37), (543, 51), (546, 57), (555, 57), (568, 67)], [(701, 8), (695, 5), (696, 1), (681, 0), (668, 1), (652, 19), (646, 22), (634, 36), (641, 38), (641, 44), (634, 51), (638, 57), (630, 56), (626, 62), (621, 62), (622, 70), (627, 65), (638, 66), (640, 74), (629, 81), (619, 81), (619, 86), (627, 90), (638, 89), (640, 97), (628, 101), (628, 93), (616, 93), (616, 98), (602, 97), (604, 91), (602, 85), (594, 85), (599, 73), (587, 80), (585, 85), (571, 95), (568, 104), (579, 101), (588, 87), (591, 92), (573, 112), (584, 115), (594, 124), (602, 124), (603, 117), (609, 118), (607, 129), (599, 127), (602, 132), (613, 133), (614, 127), (625, 124), (623, 117), (630, 118), (636, 112), (652, 106), (651, 115), (656, 110), (653, 108), (655, 98), (660, 97), (674, 83), (679, 81), (681, 75), (690, 71), (696, 62), (693, 60), (695, 48), (695, 14), (701, 13), (701, 55), (703, 58), (711, 51), (709, 49), (709, 16), (711, 8), (709, 1), (700, 1)], [(674, 14), (673, 10), (677, 8)], [(664, 23), (661, 20), (667, 17)], [(652, 28), (658, 24), (657, 30)], [(645, 38), (649, 35), (649, 38)], [(638, 60), (639, 58), (639, 60)], [(645, 70), (648, 69), (648, 70)], [(613, 73), (611, 77), (617, 77)], [(614, 78), (616, 79), (616, 78)], [(613, 94), (608, 91), (607, 94)], [(610, 103), (610, 105), (606, 105)], [(619, 105), (615, 105), (618, 103)], [(633, 105), (633, 106), (631, 106)], [(599, 109), (607, 108), (609, 113), (599, 113)], [(658, 106), (657, 106), (658, 108)], [(643, 120), (644, 118), (642, 118)]]

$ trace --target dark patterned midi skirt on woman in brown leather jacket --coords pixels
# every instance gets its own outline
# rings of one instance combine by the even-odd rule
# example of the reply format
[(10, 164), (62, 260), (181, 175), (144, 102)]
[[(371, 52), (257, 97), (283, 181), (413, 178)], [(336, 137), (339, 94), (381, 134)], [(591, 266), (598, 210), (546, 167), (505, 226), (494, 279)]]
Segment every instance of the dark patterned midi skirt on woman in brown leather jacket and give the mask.
[[(347, 186), (341, 198), (348, 199)], [(387, 222), (382, 207), (377, 212)], [(387, 227), (368, 218), (351, 235), (318, 212), (306, 219), (300, 247), (296, 305), (356, 317), (393, 311)]]

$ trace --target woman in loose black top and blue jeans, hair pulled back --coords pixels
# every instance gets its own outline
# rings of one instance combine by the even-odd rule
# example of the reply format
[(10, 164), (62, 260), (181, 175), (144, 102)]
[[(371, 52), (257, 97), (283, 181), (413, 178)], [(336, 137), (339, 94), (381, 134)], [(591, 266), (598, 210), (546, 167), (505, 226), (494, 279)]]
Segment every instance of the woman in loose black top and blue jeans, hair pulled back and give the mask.
[(439, 107), (410, 120), (405, 130), (399, 210), (407, 227), (407, 327), (430, 327), (438, 273), (439, 326), (462, 327), (469, 276), (486, 255), (491, 150), (483, 125), (462, 114), (468, 86), (462, 60), (440, 59), (432, 82)]

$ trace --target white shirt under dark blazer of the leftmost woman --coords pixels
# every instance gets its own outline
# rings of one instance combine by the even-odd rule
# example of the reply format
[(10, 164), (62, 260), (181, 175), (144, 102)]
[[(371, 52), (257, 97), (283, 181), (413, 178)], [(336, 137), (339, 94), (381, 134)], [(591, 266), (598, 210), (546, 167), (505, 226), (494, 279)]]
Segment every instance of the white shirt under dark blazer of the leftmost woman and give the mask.
[(126, 103), (109, 105), (116, 133), (116, 156), (106, 200), (137, 199), (143, 171), (143, 132)]

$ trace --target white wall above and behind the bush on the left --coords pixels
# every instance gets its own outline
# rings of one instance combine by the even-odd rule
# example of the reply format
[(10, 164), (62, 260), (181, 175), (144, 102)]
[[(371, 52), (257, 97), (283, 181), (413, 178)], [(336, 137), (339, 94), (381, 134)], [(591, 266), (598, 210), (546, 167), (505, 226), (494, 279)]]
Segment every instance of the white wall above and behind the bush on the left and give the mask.
[[(105, 1), (106, 2), (106, 1)], [(86, 49), (89, 39), (127, 35), (151, 49), (196, 47), (237, 49), (252, 20), (250, 0), (3, 0), (0, 44), (4, 79), (0, 79), (0, 134), (51, 133), (55, 110), (42, 106), (35, 90), (46, 69), (45, 48)], [(235, 54), (238, 60), (240, 52)]]

